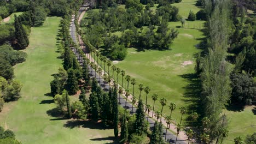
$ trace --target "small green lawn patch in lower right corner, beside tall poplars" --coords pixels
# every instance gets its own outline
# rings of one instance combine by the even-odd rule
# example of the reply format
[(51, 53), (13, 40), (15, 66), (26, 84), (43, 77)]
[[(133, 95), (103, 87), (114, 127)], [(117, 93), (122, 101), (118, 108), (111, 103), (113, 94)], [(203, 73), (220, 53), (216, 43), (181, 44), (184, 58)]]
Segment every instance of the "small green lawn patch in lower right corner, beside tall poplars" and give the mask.
[(244, 111), (226, 111), (229, 118), (229, 136), (223, 143), (232, 144), (237, 136), (245, 140), (256, 129), (256, 106), (248, 106)]

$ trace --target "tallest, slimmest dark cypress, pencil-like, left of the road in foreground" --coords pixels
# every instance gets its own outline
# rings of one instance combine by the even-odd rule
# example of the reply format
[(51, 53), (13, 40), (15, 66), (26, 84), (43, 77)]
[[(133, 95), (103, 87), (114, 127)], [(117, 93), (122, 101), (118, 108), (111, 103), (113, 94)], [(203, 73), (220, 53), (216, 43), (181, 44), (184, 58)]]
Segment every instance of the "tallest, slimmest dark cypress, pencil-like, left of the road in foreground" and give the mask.
[(117, 87), (114, 88), (113, 92), (113, 125), (114, 125), (114, 135), (118, 137), (118, 93)]

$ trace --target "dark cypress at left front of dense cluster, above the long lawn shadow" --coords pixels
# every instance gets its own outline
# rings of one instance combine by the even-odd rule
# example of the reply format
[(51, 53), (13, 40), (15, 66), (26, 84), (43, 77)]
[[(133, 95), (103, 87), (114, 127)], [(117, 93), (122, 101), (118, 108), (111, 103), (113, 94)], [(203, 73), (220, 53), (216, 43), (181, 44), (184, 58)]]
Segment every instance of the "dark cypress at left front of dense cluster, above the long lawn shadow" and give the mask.
[(98, 114), (100, 113), (100, 106), (98, 105), (98, 98), (95, 92), (90, 94), (90, 107), (91, 107), (91, 115), (94, 121), (98, 121)]

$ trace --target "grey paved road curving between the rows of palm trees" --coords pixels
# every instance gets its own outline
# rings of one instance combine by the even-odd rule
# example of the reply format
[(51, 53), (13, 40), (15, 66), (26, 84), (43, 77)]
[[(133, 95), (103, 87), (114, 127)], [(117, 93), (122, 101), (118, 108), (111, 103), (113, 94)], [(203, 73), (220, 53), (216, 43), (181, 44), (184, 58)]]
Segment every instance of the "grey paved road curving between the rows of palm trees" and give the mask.
[[(76, 34), (75, 34), (75, 25), (74, 25), (74, 21), (72, 20), (71, 22), (71, 26), (70, 26), (70, 35), (71, 35), (71, 38), (73, 39), (74, 43), (75, 44), (78, 44), (78, 41), (77, 41), (77, 38), (76, 38)], [(80, 65), (83, 65), (83, 59), (81, 58), (81, 56), (79, 56), (78, 52), (75, 50), (75, 49), (72, 49), (72, 51), (75, 53), (75, 55), (77, 56), (77, 59), (78, 59), (78, 62), (80, 63)], [(104, 79), (101, 77), (101, 82), (100, 82), (100, 75), (98, 73), (95, 73), (95, 70), (94, 69), (91, 69), (90, 65), (89, 65), (89, 69), (90, 69), (90, 74), (91, 74), (91, 77), (96, 77), (96, 79), (98, 80), (100, 86), (102, 87), (102, 89), (104, 89), (104, 91), (108, 91), (108, 83), (104, 82)], [(92, 71), (92, 73), (91, 73)], [(96, 74), (96, 75), (95, 75)], [(105, 85), (105, 87), (104, 87)], [(111, 86), (110, 86), (111, 87)], [(119, 98), (118, 98), (119, 99)], [(118, 100), (119, 101), (119, 100)], [(121, 98), (120, 99), (120, 105), (125, 107), (125, 99), (124, 98)], [(125, 107), (127, 110), (129, 110), (131, 113), (135, 113), (136, 112), (136, 107), (133, 107), (133, 111), (132, 111), (132, 104), (131, 103), (128, 103), (126, 104), (126, 107)], [(147, 116), (146, 116), (146, 119), (147, 119)], [(148, 119), (148, 122), (149, 122), (149, 127), (150, 129), (152, 129), (152, 127), (154, 127), (154, 123), (155, 123), (155, 120), (153, 118), (150, 118)], [(163, 128), (162, 129), (163, 131), (163, 139), (165, 139), (165, 131), (166, 131), (166, 128)], [(169, 142), (169, 143), (175, 143), (175, 140), (176, 140), (176, 134), (172, 134), (170, 133), (170, 131), (167, 130), (167, 135), (166, 135), (166, 140)], [(179, 144), (185, 144), (187, 142), (185, 142), (184, 140), (180, 140), (179, 138), (177, 139), (177, 143)]]

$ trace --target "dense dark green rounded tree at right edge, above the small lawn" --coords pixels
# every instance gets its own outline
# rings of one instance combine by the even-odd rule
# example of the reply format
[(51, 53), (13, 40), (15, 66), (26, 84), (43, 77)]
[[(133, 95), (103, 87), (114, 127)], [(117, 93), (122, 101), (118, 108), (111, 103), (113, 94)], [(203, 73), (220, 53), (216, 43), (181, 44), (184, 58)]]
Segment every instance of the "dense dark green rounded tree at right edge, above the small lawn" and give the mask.
[(231, 74), (232, 103), (241, 105), (251, 105), (255, 99), (256, 87), (253, 77), (247, 74)]

